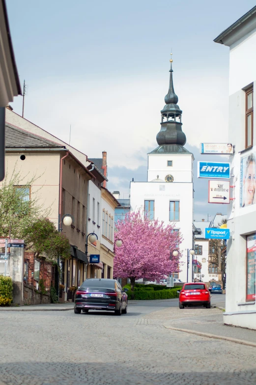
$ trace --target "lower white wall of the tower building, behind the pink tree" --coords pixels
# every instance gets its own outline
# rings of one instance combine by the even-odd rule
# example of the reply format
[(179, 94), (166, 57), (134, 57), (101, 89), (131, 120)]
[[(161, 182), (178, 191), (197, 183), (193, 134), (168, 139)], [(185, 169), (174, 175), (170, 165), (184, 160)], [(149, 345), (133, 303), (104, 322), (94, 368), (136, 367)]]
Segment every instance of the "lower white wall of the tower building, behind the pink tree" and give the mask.
[[(160, 186), (165, 191), (160, 190)], [(161, 187), (161, 189), (163, 188)], [(187, 281), (187, 248), (193, 247), (193, 183), (161, 183), (161, 182), (131, 182), (131, 211), (144, 208), (145, 200), (155, 201), (155, 219), (163, 220), (165, 225), (174, 223), (174, 228), (180, 229), (183, 250), (179, 278)], [(169, 220), (169, 202), (180, 201), (180, 220)], [(192, 280), (192, 258), (190, 258), (189, 281)]]

